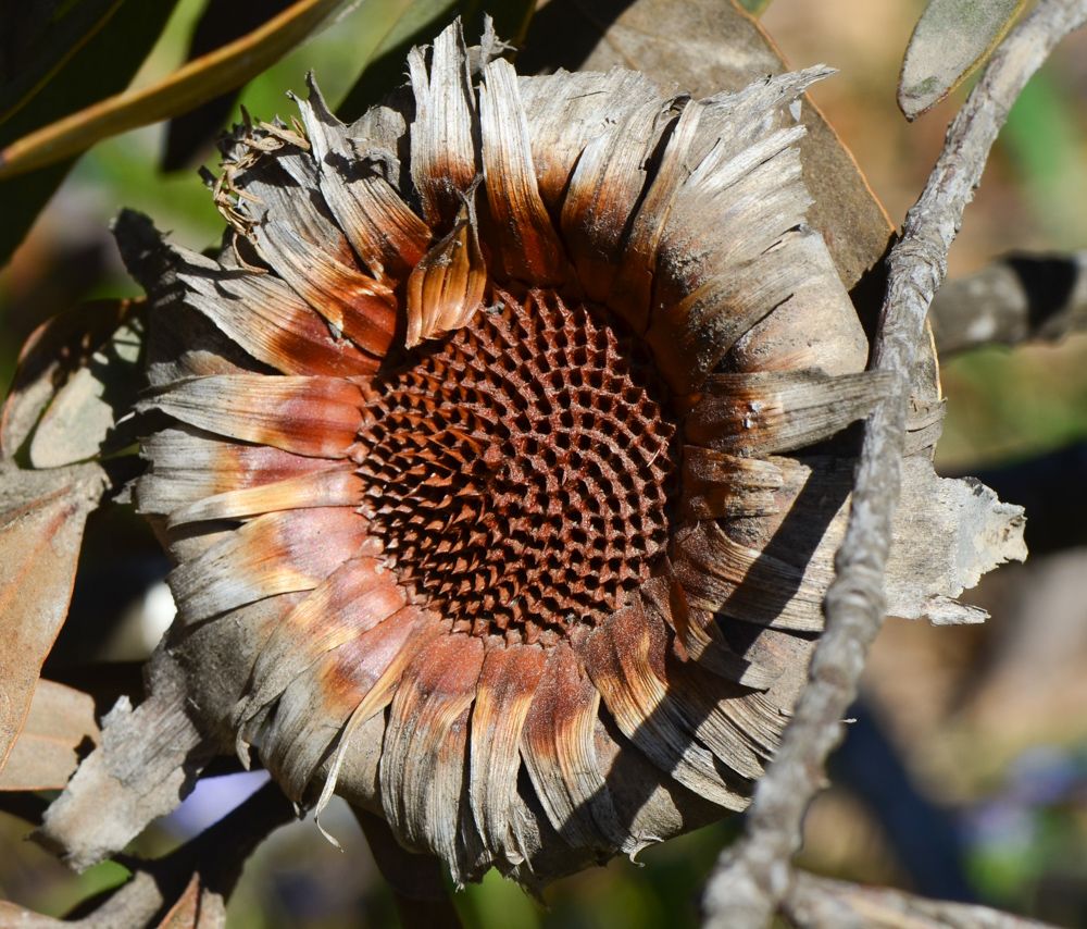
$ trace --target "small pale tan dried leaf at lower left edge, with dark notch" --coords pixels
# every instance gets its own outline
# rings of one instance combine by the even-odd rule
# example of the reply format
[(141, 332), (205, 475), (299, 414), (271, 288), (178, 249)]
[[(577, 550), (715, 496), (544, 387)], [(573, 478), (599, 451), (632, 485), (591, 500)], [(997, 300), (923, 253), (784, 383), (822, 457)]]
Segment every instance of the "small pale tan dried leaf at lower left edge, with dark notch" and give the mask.
[(99, 742), (95, 701), (39, 680), (23, 731), (0, 773), (0, 790), (63, 790), (80, 753)]

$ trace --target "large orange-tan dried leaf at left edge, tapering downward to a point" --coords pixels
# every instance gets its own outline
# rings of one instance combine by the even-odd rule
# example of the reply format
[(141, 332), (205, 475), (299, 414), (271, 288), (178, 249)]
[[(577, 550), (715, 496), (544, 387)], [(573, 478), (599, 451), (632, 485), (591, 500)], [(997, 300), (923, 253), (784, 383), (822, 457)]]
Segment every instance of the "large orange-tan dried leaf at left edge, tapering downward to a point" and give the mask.
[(0, 769), (67, 614), (83, 527), (103, 484), (97, 466), (0, 470)]

